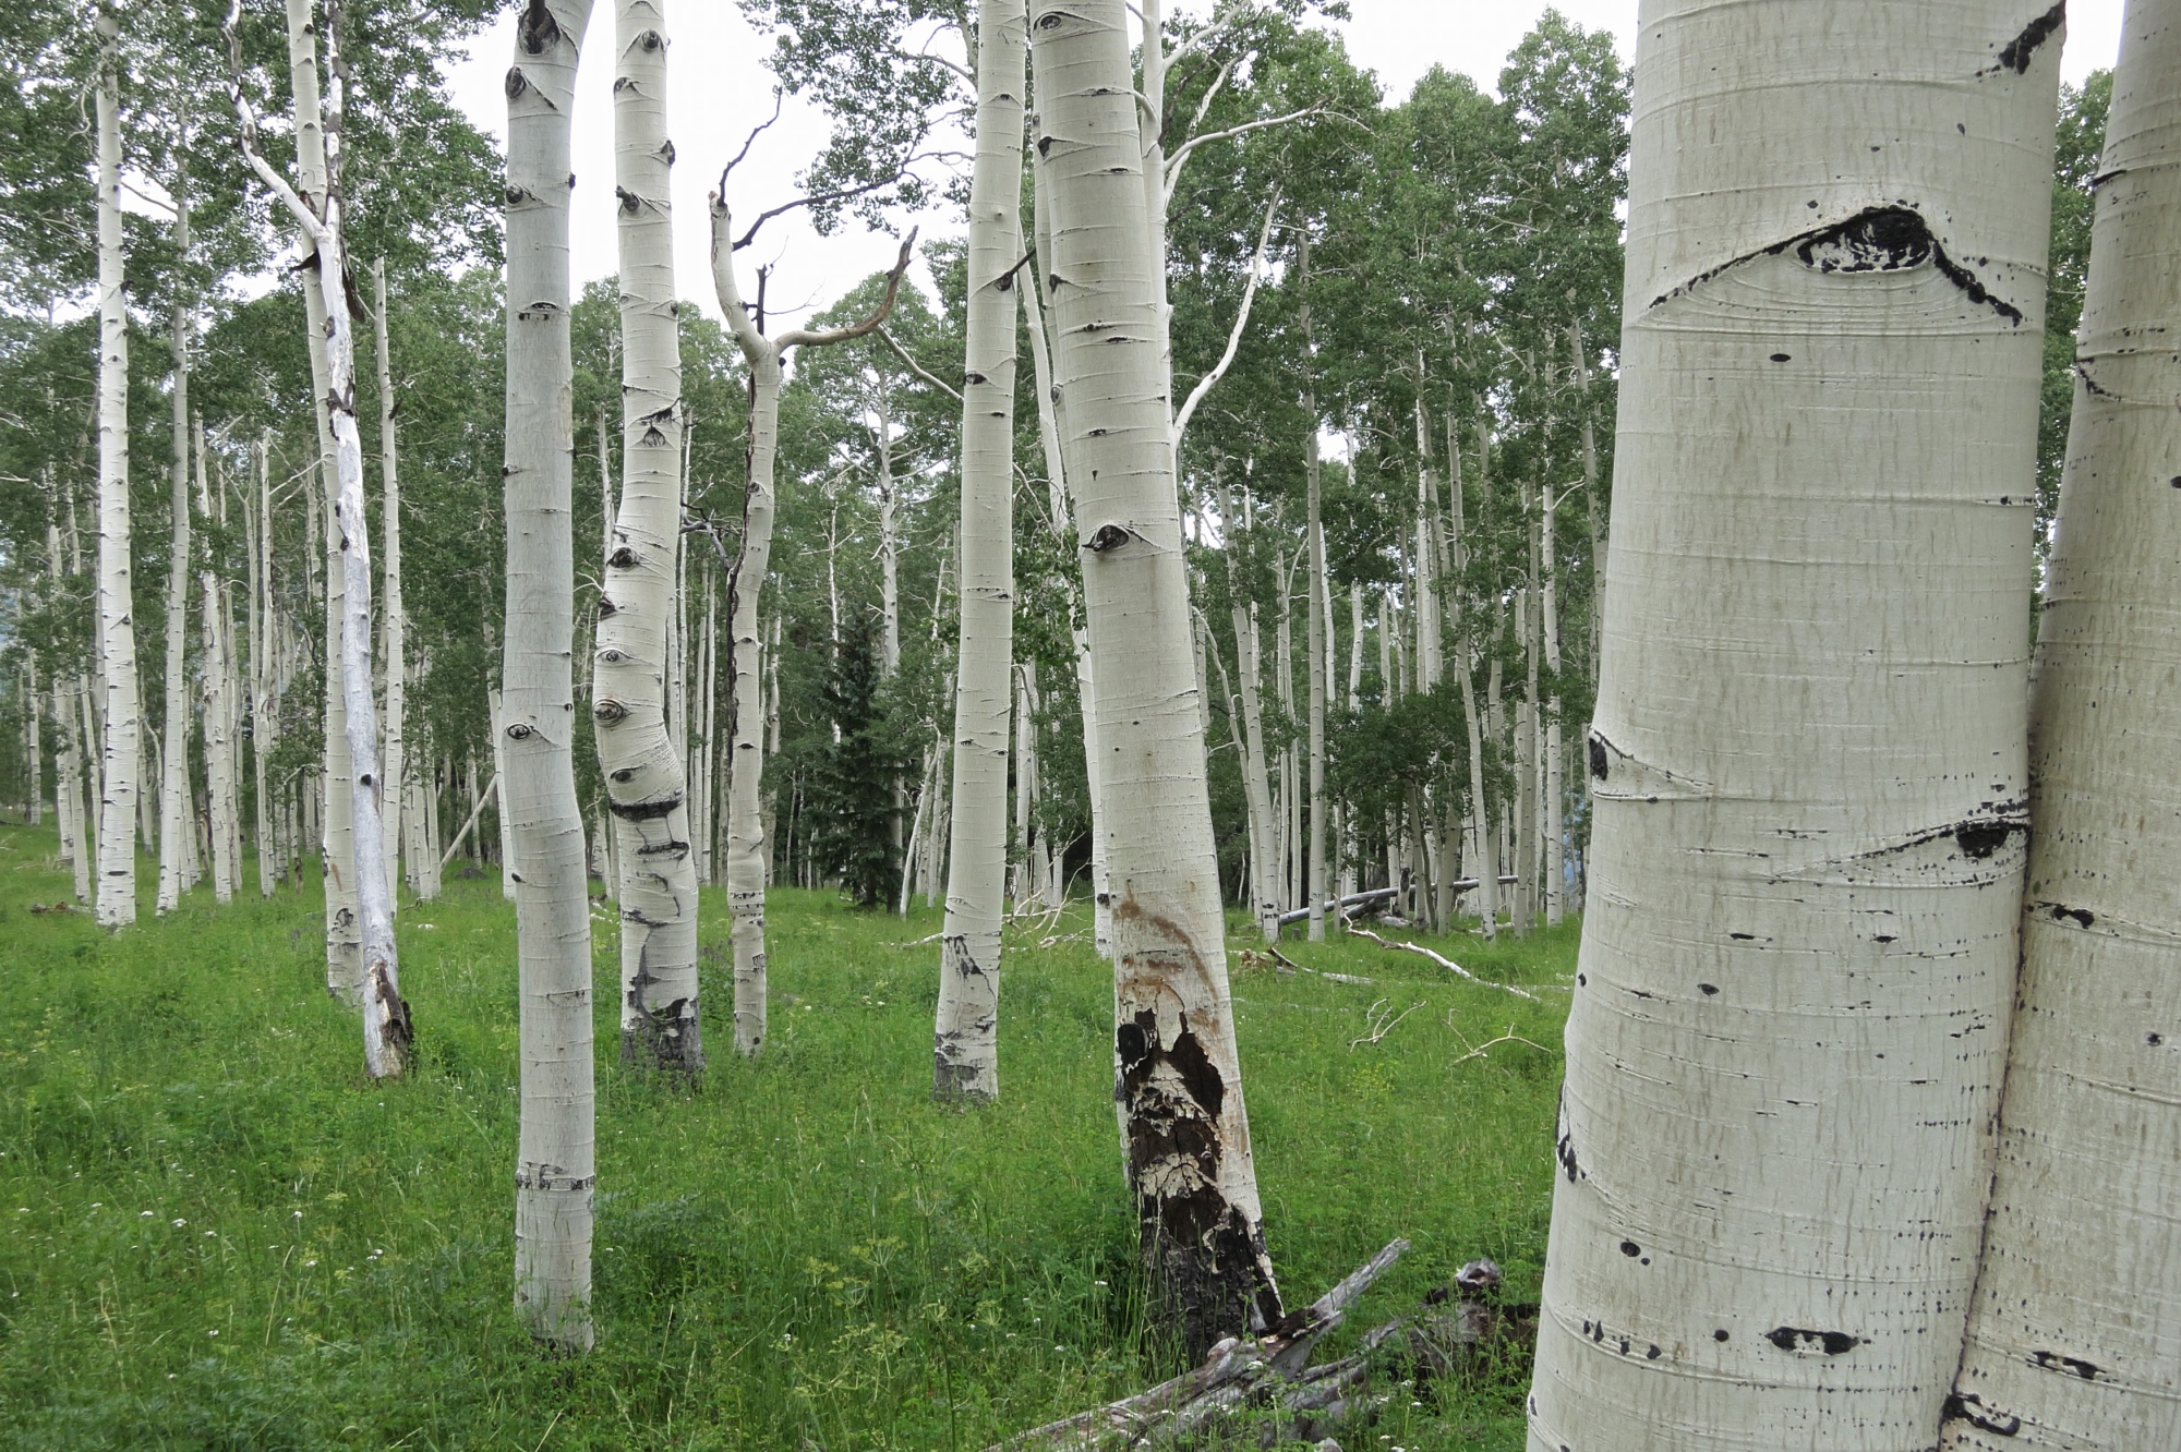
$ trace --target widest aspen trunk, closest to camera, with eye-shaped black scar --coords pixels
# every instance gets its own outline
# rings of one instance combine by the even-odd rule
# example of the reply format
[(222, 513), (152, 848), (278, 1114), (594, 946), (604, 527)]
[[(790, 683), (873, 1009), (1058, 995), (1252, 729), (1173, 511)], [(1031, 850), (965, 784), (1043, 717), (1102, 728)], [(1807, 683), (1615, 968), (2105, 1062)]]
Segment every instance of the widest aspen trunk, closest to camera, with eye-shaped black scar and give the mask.
[(1642, 4), (1531, 1452), (1939, 1439), (2024, 866), (2046, 2)]

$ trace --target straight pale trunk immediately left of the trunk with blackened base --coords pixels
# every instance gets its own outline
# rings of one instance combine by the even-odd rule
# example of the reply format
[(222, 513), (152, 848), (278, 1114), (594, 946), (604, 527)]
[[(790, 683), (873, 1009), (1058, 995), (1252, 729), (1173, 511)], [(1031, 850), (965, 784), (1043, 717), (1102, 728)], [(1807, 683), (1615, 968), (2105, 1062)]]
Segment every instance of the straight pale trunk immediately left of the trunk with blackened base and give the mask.
[(962, 371), (962, 637), (955, 654), (947, 920), (931, 1092), (999, 1097), (999, 927), (1008, 890), (1014, 661), (1014, 336), (1023, 253), (1023, 0), (977, 7), (977, 164)]

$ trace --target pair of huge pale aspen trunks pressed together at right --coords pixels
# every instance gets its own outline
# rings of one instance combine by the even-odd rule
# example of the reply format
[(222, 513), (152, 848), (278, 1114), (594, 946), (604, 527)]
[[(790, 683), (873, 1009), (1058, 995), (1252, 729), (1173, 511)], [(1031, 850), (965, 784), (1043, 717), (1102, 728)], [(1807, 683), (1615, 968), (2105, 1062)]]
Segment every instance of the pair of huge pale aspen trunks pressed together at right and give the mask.
[(2181, 7), (1649, 0), (1533, 1452), (2181, 1439)]

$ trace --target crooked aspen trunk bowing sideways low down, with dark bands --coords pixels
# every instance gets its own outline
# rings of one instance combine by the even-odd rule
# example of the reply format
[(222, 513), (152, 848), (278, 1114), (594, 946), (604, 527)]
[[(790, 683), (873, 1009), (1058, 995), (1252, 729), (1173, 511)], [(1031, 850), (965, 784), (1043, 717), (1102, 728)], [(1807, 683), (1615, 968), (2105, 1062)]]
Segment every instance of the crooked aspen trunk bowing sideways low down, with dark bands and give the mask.
[(615, 0), (613, 155), (622, 249), (622, 501), (598, 604), (591, 715), (622, 892), (622, 1062), (704, 1068), (689, 778), (667, 722), (680, 565), (680, 327), (661, 0)]

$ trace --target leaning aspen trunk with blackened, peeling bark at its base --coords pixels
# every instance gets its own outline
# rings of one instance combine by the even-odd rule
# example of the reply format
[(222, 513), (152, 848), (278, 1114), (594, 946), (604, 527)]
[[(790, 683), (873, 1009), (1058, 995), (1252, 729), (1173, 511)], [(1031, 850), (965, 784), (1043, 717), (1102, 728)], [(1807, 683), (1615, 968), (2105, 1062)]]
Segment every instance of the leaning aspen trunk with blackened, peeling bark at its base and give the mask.
[(1162, 1317), (1200, 1354), (1280, 1295), (1250, 1158), (1121, 0), (1036, 0), (1056, 382), (1097, 674), (1114, 1099)]

